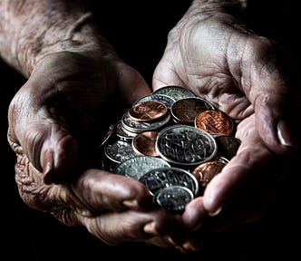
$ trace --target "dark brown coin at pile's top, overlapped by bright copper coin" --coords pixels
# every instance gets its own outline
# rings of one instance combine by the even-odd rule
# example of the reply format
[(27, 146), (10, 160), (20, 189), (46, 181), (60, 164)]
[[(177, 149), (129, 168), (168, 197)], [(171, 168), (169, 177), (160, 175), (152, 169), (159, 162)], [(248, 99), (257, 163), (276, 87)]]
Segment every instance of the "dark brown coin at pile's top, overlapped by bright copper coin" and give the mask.
[(171, 115), (180, 123), (193, 124), (200, 111), (215, 110), (212, 103), (200, 97), (189, 97), (174, 102)]

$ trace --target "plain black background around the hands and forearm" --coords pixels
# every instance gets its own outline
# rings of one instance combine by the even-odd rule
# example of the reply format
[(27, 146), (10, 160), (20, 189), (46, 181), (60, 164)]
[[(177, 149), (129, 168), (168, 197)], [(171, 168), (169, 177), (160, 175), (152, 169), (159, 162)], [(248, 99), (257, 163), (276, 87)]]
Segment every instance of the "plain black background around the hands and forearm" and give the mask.
[[(184, 14), (190, 1), (120, 2), (116, 4), (116, 1), (112, 1), (111, 4), (95, 7), (100, 13), (98, 17), (100, 17), (102, 34), (115, 46), (121, 58), (136, 67), (150, 82), (151, 74), (164, 50), (166, 36), (170, 28)], [(287, 6), (285, 8), (274, 1), (273, 6), (279, 11), (278, 14), (281, 14), (275, 17), (276, 13), (267, 1), (259, 2), (260, 5), (257, 3), (251, 6), (254, 10), (259, 6), (261, 12), (253, 22), (254, 28), (283, 43), (293, 54), (296, 63), (299, 63), (297, 50), (299, 42), (294, 36), (299, 33), (296, 27), (296, 16), (286, 15)], [(296, 14), (296, 11), (294, 13)], [(270, 27), (276, 27), (277, 30), (270, 30)], [(283, 185), (283, 190), (279, 193), (273, 208), (267, 213), (267, 217), (256, 224), (239, 227), (220, 235), (218, 240), (197, 254), (184, 255), (178, 251), (131, 244), (109, 247), (90, 235), (83, 227), (66, 227), (49, 214), (29, 208), (18, 195), (14, 177), (15, 154), (6, 140), (8, 104), (25, 79), (1, 61), (0, 72), (3, 93), (0, 102), (0, 148), (3, 160), (1, 166), (4, 166), (4, 170), (1, 171), (2, 179), (0, 179), (4, 242), (1, 254), (7, 256), (5, 259), (77, 260), (82, 256), (84, 260), (92, 258), (96, 260), (169, 258), (199, 261), (297, 259), (295, 256), (298, 255), (300, 243), (298, 223), (300, 215), (297, 214), (300, 196), (297, 180)], [(295, 171), (299, 172), (299, 170)]]

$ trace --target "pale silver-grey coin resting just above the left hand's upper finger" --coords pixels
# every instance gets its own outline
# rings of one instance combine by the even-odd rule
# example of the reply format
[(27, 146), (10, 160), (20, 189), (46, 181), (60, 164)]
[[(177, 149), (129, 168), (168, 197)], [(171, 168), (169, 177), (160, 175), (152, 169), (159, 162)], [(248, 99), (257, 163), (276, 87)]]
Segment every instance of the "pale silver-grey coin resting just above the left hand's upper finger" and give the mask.
[(139, 180), (141, 176), (149, 172), (151, 169), (163, 167), (170, 167), (170, 164), (160, 158), (139, 156), (122, 161), (113, 169), (113, 173)]

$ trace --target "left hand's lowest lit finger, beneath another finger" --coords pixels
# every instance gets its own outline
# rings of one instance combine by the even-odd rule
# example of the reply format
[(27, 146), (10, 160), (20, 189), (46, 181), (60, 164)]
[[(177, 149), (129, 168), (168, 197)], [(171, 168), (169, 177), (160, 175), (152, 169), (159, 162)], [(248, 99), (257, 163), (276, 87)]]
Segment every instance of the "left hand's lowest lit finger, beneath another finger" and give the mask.
[(107, 212), (96, 218), (81, 218), (83, 225), (92, 235), (110, 245), (146, 241), (171, 247), (171, 244), (164, 239), (164, 235), (173, 229), (174, 224), (170, 214), (162, 209), (149, 212)]

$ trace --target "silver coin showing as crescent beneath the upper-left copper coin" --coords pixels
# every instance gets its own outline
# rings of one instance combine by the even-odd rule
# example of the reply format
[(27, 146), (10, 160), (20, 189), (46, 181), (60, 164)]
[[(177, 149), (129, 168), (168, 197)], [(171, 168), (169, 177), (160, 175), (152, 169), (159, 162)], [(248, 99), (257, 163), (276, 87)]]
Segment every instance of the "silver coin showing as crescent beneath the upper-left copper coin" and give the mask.
[(122, 127), (125, 130), (134, 133), (140, 133), (142, 131), (156, 131), (162, 128), (164, 125), (166, 125), (169, 121), (170, 121), (170, 112), (168, 112), (167, 116), (160, 119), (159, 121), (153, 121), (153, 122), (132, 121), (129, 115), (129, 111), (123, 113), (121, 118)]

